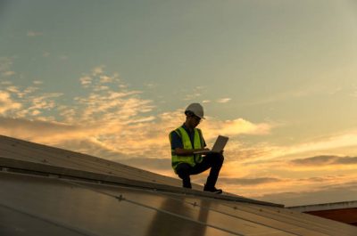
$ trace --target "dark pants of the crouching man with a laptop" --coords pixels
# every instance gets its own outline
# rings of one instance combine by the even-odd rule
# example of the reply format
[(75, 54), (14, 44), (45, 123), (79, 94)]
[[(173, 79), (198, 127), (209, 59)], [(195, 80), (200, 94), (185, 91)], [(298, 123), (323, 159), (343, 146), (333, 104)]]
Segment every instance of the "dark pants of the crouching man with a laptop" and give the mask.
[(213, 188), (216, 185), (218, 175), (220, 174), (220, 167), (222, 167), (223, 160), (224, 157), (220, 153), (210, 153), (203, 157), (203, 161), (196, 164), (195, 167), (191, 167), (187, 163), (179, 164), (176, 168), (176, 173), (182, 179), (183, 187), (190, 189), (192, 188), (190, 175), (197, 175), (211, 168), (205, 187)]

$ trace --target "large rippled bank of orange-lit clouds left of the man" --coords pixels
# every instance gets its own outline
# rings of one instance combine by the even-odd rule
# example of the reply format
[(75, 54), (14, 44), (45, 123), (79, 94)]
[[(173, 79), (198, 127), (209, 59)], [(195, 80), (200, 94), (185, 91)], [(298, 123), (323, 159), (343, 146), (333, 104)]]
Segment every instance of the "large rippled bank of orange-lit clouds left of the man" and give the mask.
[[(99, 69), (94, 71), (100, 72)], [(62, 104), (63, 94), (60, 93), (41, 93), (37, 87), (8, 86), (11, 92), (2, 91), (1, 94), (2, 113), (20, 106), (22, 109), (3, 117), (7, 120), (0, 122), (2, 134), (62, 148), (77, 143), (77, 151), (95, 151), (103, 158), (114, 159), (119, 153), (118, 159), (125, 155), (154, 158), (161, 154), (170, 159), (170, 149), (166, 148), (169, 146), (166, 134), (169, 130), (163, 131), (165, 125), (160, 123), (165, 115), (147, 114), (154, 109), (153, 102), (140, 98), (140, 91), (120, 88), (117, 74), (110, 78), (103, 77), (104, 70), (100, 74), (91, 77), (90, 84), (82, 77), (81, 83), (90, 85), (89, 90), (86, 95), (74, 98), (70, 105)], [(98, 90), (103, 82), (110, 85), (105, 90)], [(11, 93), (17, 98), (16, 102), (11, 100)], [(92, 144), (86, 147), (88, 143)], [(95, 148), (89, 148), (94, 146), (93, 143)]]

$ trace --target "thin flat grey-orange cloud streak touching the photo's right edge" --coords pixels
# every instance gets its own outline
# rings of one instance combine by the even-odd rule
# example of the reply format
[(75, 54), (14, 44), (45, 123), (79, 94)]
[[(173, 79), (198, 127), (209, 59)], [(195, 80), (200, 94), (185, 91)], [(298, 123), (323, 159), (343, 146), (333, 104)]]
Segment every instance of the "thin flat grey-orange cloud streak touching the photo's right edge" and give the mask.
[(338, 157), (338, 156), (316, 156), (306, 159), (294, 159), (292, 164), (298, 166), (324, 167), (327, 165), (355, 165), (357, 157)]

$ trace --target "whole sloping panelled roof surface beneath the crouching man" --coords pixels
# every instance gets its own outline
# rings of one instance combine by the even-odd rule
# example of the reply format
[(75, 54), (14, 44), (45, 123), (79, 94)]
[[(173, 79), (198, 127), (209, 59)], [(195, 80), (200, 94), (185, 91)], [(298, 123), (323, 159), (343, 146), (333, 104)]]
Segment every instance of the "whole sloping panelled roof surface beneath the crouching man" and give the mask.
[[(80, 162), (66, 163), (69, 153)], [(0, 235), (357, 235), (348, 224), (183, 190), (179, 180), (145, 171), (143, 182), (135, 168), (121, 173), (120, 164), (4, 136), (0, 156)]]

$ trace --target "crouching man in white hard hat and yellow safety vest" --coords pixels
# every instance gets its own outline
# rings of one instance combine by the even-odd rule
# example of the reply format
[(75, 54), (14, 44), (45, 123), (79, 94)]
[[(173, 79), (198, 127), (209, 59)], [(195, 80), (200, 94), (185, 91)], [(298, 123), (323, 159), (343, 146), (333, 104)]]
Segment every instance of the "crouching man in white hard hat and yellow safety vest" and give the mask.
[(209, 153), (205, 156), (195, 151), (208, 150), (201, 129), (196, 128), (203, 119), (203, 107), (199, 103), (190, 104), (185, 110), (186, 121), (170, 132), (172, 168), (182, 179), (183, 187), (191, 189), (190, 175), (197, 175), (211, 168), (203, 191), (222, 193), (215, 185), (220, 175), (224, 157), (222, 153)]

